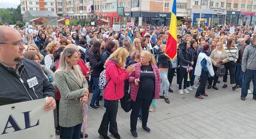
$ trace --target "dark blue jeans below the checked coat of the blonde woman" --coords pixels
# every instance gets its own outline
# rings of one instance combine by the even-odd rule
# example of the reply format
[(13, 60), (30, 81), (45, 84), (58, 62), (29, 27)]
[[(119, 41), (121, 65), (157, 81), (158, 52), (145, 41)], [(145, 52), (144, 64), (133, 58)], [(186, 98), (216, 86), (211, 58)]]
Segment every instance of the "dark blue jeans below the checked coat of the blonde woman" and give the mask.
[(73, 127), (61, 127), (60, 130), (63, 133), (62, 139), (80, 139), (82, 124), (78, 124)]

